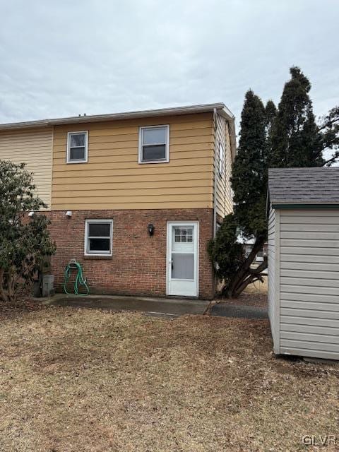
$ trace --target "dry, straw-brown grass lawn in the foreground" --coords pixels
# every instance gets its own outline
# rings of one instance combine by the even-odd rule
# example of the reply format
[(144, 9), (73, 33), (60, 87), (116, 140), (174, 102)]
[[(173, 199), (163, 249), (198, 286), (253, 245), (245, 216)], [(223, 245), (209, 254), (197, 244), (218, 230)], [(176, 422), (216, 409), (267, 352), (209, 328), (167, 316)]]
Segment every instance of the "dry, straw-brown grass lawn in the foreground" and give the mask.
[(275, 358), (267, 321), (9, 315), (0, 451), (320, 450), (302, 435), (338, 438), (338, 377), (336, 365)]

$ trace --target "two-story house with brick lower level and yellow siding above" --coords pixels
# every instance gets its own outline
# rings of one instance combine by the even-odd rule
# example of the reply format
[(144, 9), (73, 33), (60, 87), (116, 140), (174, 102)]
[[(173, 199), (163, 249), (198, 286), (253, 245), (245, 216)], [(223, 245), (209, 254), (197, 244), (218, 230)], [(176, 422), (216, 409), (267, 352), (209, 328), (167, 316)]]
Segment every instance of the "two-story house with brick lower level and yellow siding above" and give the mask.
[(91, 293), (212, 298), (235, 153), (222, 103), (0, 125), (0, 158), (49, 206), (57, 290), (75, 258)]

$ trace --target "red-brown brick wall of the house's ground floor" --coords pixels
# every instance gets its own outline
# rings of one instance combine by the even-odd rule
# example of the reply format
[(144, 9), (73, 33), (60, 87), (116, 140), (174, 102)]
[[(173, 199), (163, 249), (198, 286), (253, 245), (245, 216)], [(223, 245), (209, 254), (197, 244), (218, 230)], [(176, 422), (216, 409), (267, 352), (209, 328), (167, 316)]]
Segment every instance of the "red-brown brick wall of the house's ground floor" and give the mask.
[[(199, 297), (214, 295), (214, 277), (206, 249), (213, 234), (212, 209), (73, 210), (47, 212), (49, 229), (57, 243), (52, 270), (57, 290), (64, 282), (64, 268), (71, 258), (83, 266), (91, 293), (164, 296), (166, 293), (167, 221), (199, 221)], [(113, 220), (113, 256), (84, 256), (85, 220)], [(149, 237), (147, 226), (155, 232)]]

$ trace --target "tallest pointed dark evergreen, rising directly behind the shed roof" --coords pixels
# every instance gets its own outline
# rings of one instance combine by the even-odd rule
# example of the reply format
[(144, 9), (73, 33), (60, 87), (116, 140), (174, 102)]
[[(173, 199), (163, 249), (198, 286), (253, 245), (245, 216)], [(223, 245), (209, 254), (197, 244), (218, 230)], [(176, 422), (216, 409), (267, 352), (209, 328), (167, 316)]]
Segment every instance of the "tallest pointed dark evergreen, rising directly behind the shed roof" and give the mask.
[(297, 67), (290, 69), (272, 130), (270, 167), (314, 167), (324, 163), (323, 143), (309, 98), (311, 83)]

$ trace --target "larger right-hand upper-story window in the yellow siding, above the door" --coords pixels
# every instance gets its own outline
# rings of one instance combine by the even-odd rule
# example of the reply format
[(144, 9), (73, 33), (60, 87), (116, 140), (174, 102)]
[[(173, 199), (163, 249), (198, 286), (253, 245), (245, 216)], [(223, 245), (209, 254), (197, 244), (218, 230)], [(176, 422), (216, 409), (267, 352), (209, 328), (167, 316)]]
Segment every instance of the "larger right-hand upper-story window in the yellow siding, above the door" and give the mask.
[(169, 161), (169, 126), (147, 126), (139, 129), (139, 163)]

